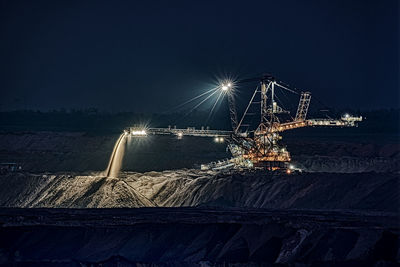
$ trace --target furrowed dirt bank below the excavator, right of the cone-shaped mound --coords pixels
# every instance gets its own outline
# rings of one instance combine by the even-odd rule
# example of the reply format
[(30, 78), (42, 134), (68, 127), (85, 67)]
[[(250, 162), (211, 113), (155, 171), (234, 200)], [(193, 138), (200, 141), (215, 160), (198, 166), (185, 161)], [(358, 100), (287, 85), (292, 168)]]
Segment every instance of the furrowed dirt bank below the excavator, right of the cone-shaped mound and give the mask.
[(126, 179), (159, 206), (397, 211), (399, 203), (399, 178), (390, 173), (197, 174), (163, 172), (152, 178), (132, 174)]

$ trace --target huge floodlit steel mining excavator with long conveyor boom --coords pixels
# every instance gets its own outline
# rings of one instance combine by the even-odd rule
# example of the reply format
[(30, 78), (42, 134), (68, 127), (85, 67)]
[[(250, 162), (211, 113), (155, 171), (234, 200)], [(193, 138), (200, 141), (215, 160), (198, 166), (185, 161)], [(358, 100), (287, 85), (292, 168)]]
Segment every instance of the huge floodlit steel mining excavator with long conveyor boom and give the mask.
[[(240, 120), (238, 120), (235, 91), (246, 84), (254, 83), (257, 84), (256, 88)], [(223, 162), (202, 165), (204, 169), (236, 167), (290, 171), (291, 157), (286, 148), (280, 145), (281, 132), (308, 126), (355, 127), (358, 122), (362, 121), (362, 117), (354, 117), (349, 114), (345, 114), (340, 119), (307, 119), (311, 92), (299, 92), (292, 89), (272, 75), (262, 75), (261, 77), (236, 82), (224, 81), (219, 85), (219, 89), (228, 99), (232, 131), (209, 130), (208, 128), (195, 129), (193, 127), (187, 129), (177, 129), (176, 127), (137, 129), (137, 127), (130, 127), (126, 130), (126, 133), (133, 136), (173, 134), (178, 138), (182, 138), (184, 135), (209, 136), (215, 137), (216, 140), (224, 138), (228, 142), (228, 148), (233, 157)], [(289, 110), (285, 110), (280, 105), (276, 94), (277, 89), (300, 96), (294, 117)], [(254, 123), (254, 118), (259, 121)]]

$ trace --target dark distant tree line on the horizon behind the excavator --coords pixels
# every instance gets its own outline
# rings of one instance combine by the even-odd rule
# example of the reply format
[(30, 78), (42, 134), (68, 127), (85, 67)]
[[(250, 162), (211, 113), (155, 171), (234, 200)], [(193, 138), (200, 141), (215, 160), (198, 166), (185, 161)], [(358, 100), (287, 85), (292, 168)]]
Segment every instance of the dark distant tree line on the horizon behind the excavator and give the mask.
[[(340, 117), (344, 113), (362, 115), (366, 120), (358, 130), (399, 133), (400, 109), (333, 110), (330, 113), (310, 112), (310, 117)], [(125, 127), (141, 125), (148, 127), (196, 127), (230, 129), (227, 110), (209, 115), (206, 111), (183, 111), (176, 113), (104, 112), (96, 108), (51, 111), (16, 110), (0, 112), (1, 131), (84, 131), (92, 133), (119, 133)]]

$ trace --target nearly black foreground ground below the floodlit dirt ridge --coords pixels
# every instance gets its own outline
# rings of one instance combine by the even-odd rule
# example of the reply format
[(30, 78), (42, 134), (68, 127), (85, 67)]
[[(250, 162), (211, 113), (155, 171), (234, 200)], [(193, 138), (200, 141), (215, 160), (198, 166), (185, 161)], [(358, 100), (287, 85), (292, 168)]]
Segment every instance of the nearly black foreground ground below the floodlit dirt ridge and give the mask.
[[(0, 209), (0, 262), (28, 266), (398, 266), (395, 213)], [(304, 265), (303, 265), (304, 264)]]

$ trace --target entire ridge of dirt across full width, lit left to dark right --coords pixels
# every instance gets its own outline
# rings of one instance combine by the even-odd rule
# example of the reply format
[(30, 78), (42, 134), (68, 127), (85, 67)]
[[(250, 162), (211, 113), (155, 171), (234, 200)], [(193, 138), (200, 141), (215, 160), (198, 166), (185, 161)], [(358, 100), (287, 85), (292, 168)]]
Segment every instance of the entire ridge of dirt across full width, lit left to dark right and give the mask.
[(19, 174), (0, 176), (0, 206), (397, 211), (398, 185), (397, 174), (372, 172), (277, 175), (178, 170), (123, 173), (121, 178)]

